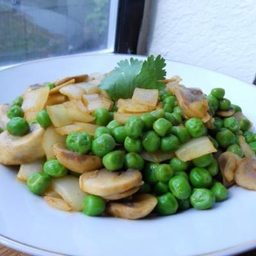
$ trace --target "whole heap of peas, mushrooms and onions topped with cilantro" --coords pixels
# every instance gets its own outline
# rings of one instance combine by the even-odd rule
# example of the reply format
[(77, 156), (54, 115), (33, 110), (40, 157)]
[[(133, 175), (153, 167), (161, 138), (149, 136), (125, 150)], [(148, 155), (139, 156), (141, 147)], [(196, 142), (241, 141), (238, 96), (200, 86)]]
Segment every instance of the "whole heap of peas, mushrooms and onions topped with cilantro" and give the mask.
[(256, 135), (223, 88), (205, 95), (161, 56), (28, 86), (0, 105), (0, 163), (63, 211), (136, 220), (256, 190)]

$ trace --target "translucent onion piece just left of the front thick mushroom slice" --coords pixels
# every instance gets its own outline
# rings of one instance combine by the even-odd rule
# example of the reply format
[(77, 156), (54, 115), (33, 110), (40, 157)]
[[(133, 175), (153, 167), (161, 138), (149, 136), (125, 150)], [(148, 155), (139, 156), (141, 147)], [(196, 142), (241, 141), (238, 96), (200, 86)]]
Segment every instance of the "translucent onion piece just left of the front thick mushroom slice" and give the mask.
[(73, 211), (81, 211), (84, 196), (88, 195), (79, 188), (79, 179), (67, 175), (58, 179), (52, 179), (52, 189), (72, 207)]

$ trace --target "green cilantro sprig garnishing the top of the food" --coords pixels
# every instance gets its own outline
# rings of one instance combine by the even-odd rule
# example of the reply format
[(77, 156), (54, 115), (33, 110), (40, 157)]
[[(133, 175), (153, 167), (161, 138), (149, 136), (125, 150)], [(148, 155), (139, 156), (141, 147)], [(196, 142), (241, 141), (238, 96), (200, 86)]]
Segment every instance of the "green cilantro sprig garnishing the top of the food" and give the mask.
[(136, 87), (163, 90), (164, 83), (159, 80), (163, 80), (166, 75), (165, 66), (164, 58), (160, 55), (156, 58), (151, 55), (145, 61), (134, 58), (122, 60), (101, 81), (99, 87), (106, 90), (115, 101), (131, 98)]

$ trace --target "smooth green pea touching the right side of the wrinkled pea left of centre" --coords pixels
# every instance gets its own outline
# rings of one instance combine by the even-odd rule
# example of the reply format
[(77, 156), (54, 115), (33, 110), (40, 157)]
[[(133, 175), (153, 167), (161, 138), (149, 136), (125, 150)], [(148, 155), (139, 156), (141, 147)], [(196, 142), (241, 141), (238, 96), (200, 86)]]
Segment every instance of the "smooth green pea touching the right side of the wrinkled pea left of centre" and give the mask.
[(99, 157), (108, 154), (115, 148), (115, 140), (109, 134), (102, 134), (99, 138), (92, 141), (92, 152)]

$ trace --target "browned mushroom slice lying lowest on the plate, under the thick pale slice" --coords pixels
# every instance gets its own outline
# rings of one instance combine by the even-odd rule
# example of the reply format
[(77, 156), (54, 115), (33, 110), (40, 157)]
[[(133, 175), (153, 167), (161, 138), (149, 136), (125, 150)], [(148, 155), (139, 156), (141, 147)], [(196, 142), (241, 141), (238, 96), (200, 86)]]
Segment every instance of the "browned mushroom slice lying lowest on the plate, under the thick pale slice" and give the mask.
[(149, 194), (136, 195), (131, 202), (110, 203), (106, 212), (118, 218), (136, 220), (144, 218), (154, 210), (157, 205), (157, 198)]

